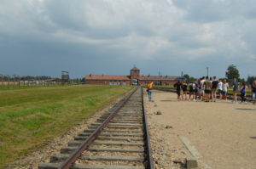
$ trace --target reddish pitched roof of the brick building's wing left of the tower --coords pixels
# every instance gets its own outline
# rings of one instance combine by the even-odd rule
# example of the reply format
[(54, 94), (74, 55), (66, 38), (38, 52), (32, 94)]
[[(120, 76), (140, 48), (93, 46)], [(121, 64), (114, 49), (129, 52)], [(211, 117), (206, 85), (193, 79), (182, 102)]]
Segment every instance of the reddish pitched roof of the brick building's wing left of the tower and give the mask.
[(130, 76), (121, 75), (86, 75), (85, 80), (121, 80), (130, 81)]

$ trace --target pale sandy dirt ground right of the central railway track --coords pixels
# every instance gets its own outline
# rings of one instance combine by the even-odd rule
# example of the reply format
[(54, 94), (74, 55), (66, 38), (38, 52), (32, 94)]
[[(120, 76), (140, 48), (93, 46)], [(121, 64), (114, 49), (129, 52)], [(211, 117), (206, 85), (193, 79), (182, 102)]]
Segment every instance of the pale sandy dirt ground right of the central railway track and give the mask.
[(256, 105), (177, 101), (155, 90), (153, 102), (144, 99), (156, 168), (179, 168), (174, 159), (193, 156), (182, 136), (201, 154), (199, 168), (256, 168)]

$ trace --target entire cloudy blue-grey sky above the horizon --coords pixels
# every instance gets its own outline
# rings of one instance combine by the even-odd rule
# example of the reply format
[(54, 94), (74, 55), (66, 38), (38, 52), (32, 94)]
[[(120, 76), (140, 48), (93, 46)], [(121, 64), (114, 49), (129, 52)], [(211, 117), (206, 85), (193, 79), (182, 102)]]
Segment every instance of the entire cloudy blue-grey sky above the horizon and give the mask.
[(0, 73), (256, 76), (253, 0), (1, 0)]

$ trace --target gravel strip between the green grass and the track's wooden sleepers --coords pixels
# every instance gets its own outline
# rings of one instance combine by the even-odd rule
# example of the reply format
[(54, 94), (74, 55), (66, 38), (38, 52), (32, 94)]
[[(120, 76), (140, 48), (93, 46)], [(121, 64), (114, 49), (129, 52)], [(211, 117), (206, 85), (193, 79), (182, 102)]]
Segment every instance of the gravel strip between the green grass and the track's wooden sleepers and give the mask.
[(123, 97), (120, 97), (112, 104), (103, 107), (102, 110), (96, 111), (93, 115), (90, 115), (79, 122), (79, 124), (73, 127), (70, 131), (50, 140), (49, 143), (43, 147), (35, 149), (32, 153), (26, 156), (20, 157), (18, 161), (10, 164), (6, 169), (38, 169), (39, 164), (49, 162), (50, 155), (59, 154), (62, 147), (67, 146), (68, 142), (73, 140), (79, 132), (84, 132), (84, 128), (89, 127), (91, 123), (95, 122), (102, 114), (113, 107), (113, 105), (119, 102), (122, 98)]

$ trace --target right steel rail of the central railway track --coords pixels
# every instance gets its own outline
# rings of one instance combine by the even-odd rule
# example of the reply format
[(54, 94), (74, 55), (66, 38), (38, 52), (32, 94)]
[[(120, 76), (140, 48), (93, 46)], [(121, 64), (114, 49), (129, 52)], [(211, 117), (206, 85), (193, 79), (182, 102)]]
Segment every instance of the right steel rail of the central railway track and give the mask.
[(150, 144), (150, 138), (149, 138), (149, 132), (148, 132), (148, 120), (147, 120), (147, 116), (145, 113), (145, 107), (144, 107), (144, 99), (143, 99), (143, 87), (142, 87), (142, 106), (143, 106), (143, 126), (144, 126), (144, 131), (145, 131), (145, 139), (146, 139), (146, 144), (147, 144), (147, 148), (146, 148), (146, 154), (147, 154), (147, 161), (148, 161), (148, 169), (154, 169), (154, 161), (152, 158), (152, 149), (151, 149), (151, 144)]

